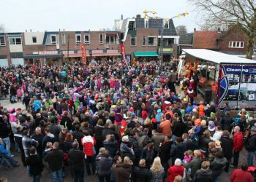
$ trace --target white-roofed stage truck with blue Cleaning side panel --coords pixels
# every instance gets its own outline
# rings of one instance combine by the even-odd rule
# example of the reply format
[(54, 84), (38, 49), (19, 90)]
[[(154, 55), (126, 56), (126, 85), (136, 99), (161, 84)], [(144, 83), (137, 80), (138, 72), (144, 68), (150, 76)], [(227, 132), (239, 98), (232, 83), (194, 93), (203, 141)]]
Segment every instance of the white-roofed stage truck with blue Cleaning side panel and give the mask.
[(183, 52), (185, 58), (178, 68), (187, 61), (199, 61), (197, 73), (205, 71), (206, 82), (217, 82), (213, 100), (219, 108), (228, 101), (230, 108), (256, 109), (256, 60), (205, 49), (184, 49)]

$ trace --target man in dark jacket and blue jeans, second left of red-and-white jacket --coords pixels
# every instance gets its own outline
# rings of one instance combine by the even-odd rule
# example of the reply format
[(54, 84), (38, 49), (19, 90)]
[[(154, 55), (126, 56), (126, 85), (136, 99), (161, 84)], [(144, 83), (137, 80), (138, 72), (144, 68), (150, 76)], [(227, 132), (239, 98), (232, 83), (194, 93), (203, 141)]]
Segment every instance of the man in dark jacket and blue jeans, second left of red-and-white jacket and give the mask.
[(52, 181), (56, 181), (56, 178), (58, 178), (59, 182), (63, 182), (63, 176), (62, 176), (63, 161), (64, 161), (64, 153), (62, 150), (59, 150), (59, 143), (54, 142), (53, 149), (49, 151), (45, 156), (45, 162), (48, 162)]

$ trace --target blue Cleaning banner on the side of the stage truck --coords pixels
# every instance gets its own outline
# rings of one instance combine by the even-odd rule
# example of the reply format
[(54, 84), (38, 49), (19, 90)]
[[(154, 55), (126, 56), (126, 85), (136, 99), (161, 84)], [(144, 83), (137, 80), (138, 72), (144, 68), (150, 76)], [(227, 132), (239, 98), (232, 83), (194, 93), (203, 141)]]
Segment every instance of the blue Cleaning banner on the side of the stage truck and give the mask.
[(217, 105), (231, 108), (256, 108), (256, 65), (222, 64)]

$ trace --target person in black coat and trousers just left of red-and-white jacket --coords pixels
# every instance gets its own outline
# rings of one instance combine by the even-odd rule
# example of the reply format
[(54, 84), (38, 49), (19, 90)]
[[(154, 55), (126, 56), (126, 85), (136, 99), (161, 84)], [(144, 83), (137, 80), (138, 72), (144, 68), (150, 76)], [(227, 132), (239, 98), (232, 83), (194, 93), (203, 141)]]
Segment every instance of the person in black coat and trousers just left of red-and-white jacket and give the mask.
[(69, 150), (69, 162), (74, 173), (75, 181), (83, 181), (84, 176), (84, 154), (79, 150), (78, 141), (72, 143), (72, 149)]

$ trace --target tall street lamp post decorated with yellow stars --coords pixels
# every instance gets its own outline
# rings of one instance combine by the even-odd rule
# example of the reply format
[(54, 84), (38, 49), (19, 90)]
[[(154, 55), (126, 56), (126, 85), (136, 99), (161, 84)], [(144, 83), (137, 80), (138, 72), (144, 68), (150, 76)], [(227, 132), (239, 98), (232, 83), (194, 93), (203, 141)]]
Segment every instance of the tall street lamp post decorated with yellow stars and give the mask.
[[(162, 62), (164, 59), (164, 52), (163, 52), (163, 33), (164, 33), (164, 28), (165, 28), (165, 23), (167, 23), (170, 20), (173, 20), (173, 18), (177, 17), (186, 17), (187, 15), (189, 15), (189, 12), (183, 12), (181, 14), (178, 14), (174, 17), (171, 18), (159, 18), (157, 17), (157, 12), (153, 11), (147, 11), (146, 9), (143, 10), (144, 13), (144, 18), (154, 18), (154, 19), (161, 19), (162, 20), (162, 25), (161, 25), (161, 38), (160, 38), (160, 66), (159, 66), (159, 71), (162, 71)], [(153, 14), (153, 16), (148, 15), (148, 13)]]

